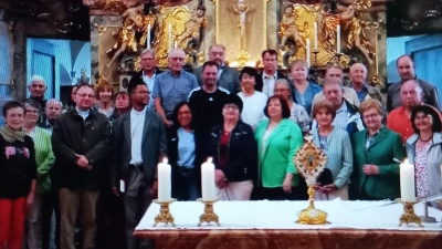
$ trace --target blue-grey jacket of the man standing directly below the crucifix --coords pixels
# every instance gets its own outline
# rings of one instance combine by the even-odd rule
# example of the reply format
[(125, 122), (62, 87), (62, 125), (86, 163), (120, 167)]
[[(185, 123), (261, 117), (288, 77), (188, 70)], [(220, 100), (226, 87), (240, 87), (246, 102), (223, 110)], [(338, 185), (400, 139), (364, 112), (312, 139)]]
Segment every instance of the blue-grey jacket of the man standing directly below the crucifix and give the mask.
[[(202, 65), (194, 69), (193, 74), (197, 76), (198, 84), (202, 85)], [(218, 86), (227, 89), (230, 94), (241, 92), (240, 75), (236, 70), (224, 65), (220, 79), (218, 79)]]

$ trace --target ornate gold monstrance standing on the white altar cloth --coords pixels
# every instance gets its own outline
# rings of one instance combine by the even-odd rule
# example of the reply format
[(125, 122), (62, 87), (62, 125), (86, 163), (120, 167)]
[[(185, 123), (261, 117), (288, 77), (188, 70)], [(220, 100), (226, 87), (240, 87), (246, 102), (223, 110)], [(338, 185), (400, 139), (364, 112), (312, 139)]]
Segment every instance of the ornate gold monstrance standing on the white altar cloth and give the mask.
[(304, 139), (304, 145), (293, 157), (293, 164), (307, 183), (309, 206), (299, 212), (297, 222), (303, 225), (324, 225), (327, 224), (327, 212), (315, 208), (315, 190), (313, 186), (325, 168), (327, 156), (314, 144), (312, 134), (306, 134)]

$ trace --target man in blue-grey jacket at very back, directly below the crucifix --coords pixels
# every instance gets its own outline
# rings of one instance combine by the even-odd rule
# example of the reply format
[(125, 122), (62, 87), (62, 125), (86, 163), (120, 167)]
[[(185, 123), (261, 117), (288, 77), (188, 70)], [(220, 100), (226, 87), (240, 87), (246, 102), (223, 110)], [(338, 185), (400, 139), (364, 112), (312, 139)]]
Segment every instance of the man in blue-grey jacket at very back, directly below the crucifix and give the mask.
[[(219, 66), (218, 71), (218, 86), (221, 86), (230, 92), (230, 94), (236, 94), (241, 92), (240, 75), (235, 69), (224, 64), (225, 48), (221, 44), (213, 44), (209, 49), (209, 61), (217, 62)], [(194, 75), (198, 79), (198, 83), (202, 85), (202, 65), (194, 70)]]

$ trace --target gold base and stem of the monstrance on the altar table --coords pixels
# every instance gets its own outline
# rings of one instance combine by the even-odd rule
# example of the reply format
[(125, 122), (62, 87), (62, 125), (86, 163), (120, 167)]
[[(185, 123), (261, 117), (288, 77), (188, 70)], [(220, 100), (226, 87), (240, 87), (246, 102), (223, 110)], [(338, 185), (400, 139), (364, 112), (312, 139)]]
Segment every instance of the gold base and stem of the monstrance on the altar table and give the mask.
[(299, 215), (297, 216), (298, 218), (297, 222), (302, 225), (327, 224), (327, 212), (315, 208), (315, 201), (314, 201), (315, 189), (313, 189), (313, 187), (309, 186), (307, 193), (308, 193), (309, 206), (299, 212)]

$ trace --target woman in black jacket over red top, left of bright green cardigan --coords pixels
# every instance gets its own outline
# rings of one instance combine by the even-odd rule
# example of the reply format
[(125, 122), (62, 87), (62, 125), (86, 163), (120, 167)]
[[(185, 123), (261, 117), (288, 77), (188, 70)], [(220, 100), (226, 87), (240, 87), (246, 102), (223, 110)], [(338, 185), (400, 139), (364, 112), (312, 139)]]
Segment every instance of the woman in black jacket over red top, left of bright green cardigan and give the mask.
[(249, 200), (257, 167), (257, 151), (253, 129), (240, 120), (243, 103), (238, 95), (229, 95), (222, 110), (223, 124), (211, 129), (204, 158), (215, 165), (218, 198)]

